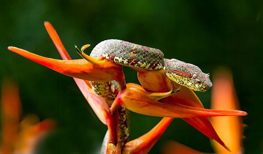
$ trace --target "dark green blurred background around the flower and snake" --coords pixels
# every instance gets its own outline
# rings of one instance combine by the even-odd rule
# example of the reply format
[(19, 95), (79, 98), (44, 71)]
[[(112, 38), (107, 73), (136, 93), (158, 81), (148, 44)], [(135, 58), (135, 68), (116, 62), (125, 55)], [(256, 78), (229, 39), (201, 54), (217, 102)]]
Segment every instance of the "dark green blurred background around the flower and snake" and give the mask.
[[(94, 154), (107, 130), (71, 77), (61, 75), (7, 49), (16, 46), (61, 59), (44, 28), (53, 24), (72, 59), (74, 45), (120, 39), (160, 49), (210, 73), (218, 66), (233, 72), (244, 117), (245, 154), (263, 151), (263, 1), (262, 0), (1, 0), (0, 79), (19, 83), (23, 115), (58, 123), (39, 145), (37, 154)], [(126, 82), (139, 83), (136, 72), (124, 69)], [(210, 108), (210, 92), (196, 92)], [(153, 128), (159, 117), (131, 113), (130, 139)], [(213, 152), (209, 139), (181, 119), (175, 119), (150, 154), (159, 154), (172, 139), (203, 152)]]

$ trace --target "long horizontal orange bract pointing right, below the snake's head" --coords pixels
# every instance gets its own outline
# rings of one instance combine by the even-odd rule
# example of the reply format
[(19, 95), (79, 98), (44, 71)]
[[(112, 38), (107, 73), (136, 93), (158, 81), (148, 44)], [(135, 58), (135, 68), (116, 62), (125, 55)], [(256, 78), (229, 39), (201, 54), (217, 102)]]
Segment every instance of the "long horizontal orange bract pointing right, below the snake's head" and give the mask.
[(171, 118), (246, 115), (246, 112), (239, 110), (212, 110), (185, 106), (178, 103), (174, 103), (173, 105), (166, 102), (161, 103), (147, 96), (148, 92), (141, 91), (140, 88), (129, 88), (128, 85), (127, 89), (118, 94), (122, 99), (122, 105), (140, 114)]

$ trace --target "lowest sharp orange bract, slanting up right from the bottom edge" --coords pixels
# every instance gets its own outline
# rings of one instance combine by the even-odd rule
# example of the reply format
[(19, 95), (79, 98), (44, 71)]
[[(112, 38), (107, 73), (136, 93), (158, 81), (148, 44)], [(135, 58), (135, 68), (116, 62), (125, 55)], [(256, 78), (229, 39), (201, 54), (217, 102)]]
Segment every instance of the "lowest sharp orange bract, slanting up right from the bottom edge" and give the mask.
[(148, 133), (126, 143), (123, 147), (123, 154), (148, 154), (172, 120), (173, 118), (163, 118)]

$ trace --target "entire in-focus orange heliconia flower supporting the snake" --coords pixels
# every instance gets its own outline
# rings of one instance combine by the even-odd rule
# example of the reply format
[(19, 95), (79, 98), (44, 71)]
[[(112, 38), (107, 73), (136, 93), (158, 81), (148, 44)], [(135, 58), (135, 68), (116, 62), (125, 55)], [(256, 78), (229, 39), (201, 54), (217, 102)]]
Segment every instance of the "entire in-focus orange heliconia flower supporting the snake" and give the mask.
[[(109, 142), (106, 145), (108, 148), (106, 151), (115, 151), (116, 153), (120, 153), (122, 150), (118, 144), (116, 146), (119, 117), (118, 109), (120, 106), (124, 106), (140, 114), (159, 117), (183, 118), (186, 122), (193, 125), (210, 139), (215, 139), (228, 149), (224, 142), (216, 134), (208, 117), (245, 116), (246, 112), (238, 110), (205, 109), (192, 90), (186, 87), (181, 87), (180, 89), (178, 84), (175, 82), (171, 83), (169, 78), (166, 77), (164, 70), (152, 71), (133, 68), (138, 71), (138, 78), (142, 86), (136, 84), (126, 85), (122, 70), (123, 66), (110, 62), (102, 57), (91, 58), (88, 55), (84, 56), (85, 60), (71, 60), (56, 31), (53, 29), (53, 26), (49, 22), (45, 22), (45, 27), (63, 60), (45, 58), (17, 47), (8, 47), (8, 49), (32, 61), (47, 66), (59, 73), (74, 77), (78, 87), (88, 100), (88, 103), (98, 118), (108, 126)], [(111, 104), (113, 100), (104, 99), (98, 96), (90, 88), (90, 84), (88, 82), (89, 80), (97, 82), (111, 80), (118, 81), (121, 91), (118, 93), (112, 106), (108, 107), (107, 104)], [(177, 89), (177, 91), (175, 89)], [(178, 92), (179, 89), (180, 91)], [(168, 120), (165, 120), (167, 118), (164, 118), (164, 120), (160, 122), (157, 126), (160, 129), (159, 132), (156, 133), (156, 138), (149, 137), (149, 134), (152, 134), (151, 132), (155, 132), (150, 131), (144, 137), (138, 138), (140, 142), (144, 140), (145, 143), (148, 143), (134, 146), (132, 150), (138, 151), (141, 149), (145, 154), (146, 151), (154, 145), (157, 141), (156, 139), (158, 139), (158, 137), (172, 121), (171, 118), (168, 118)], [(133, 142), (137, 142), (138, 140), (134, 140)], [(123, 151), (125, 151), (125, 148), (127, 149), (130, 147), (128, 146), (129, 144), (134, 143), (128, 142), (126, 144), (127, 145), (124, 145)]]

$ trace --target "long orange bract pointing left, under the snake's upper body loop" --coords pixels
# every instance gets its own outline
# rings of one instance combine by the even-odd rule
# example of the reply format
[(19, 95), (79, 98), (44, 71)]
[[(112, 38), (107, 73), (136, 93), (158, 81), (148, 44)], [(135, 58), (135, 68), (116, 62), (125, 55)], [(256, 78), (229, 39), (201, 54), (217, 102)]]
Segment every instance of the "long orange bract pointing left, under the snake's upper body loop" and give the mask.
[(9, 50), (18, 53), (41, 65), (49, 67), (61, 74), (85, 80), (105, 82), (123, 78), (123, 66), (105, 60), (104, 63), (90, 64), (86, 60), (55, 60), (42, 57), (26, 50), (9, 46)]

